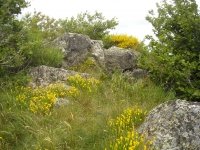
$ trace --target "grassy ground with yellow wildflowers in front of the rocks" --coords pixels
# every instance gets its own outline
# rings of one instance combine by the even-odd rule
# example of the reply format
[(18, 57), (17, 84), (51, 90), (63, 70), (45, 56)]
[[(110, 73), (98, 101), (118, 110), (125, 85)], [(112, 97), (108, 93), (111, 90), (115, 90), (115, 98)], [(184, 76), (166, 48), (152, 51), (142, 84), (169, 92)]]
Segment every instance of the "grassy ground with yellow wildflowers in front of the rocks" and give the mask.
[[(0, 149), (148, 149), (136, 129), (152, 107), (173, 99), (149, 79), (134, 81), (119, 73), (97, 79), (76, 75), (67, 83), (71, 88), (1, 90)], [(53, 109), (56, 97), (73, 103)]]

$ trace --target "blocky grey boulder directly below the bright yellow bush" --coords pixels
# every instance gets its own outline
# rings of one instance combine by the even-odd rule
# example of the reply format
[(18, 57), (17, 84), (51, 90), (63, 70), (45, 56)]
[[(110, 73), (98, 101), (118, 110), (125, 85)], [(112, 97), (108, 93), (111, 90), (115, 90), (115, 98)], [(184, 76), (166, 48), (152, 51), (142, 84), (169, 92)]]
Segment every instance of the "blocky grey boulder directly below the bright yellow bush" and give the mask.
[(105, 67), (110, 72), (133, 70), (136, 67), (138, 53), (133, 50), (111, 47), (104, 52)]

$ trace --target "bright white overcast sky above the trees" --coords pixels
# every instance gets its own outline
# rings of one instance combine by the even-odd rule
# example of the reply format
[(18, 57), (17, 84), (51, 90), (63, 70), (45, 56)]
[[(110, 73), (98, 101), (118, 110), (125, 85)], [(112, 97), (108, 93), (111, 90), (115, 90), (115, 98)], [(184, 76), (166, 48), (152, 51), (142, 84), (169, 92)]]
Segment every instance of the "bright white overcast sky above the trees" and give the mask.
[[(76, 16), (78, 13), (95, 11), (111, 19), (116, 17), (119, 25), (114, 33), (125, 33), (138, 37), (152, 33), (152, 27), (145, 20), (148, 11), (156, 8), (161, 0), (29, 0), (31, 6), (25, 12), (40, 11), (54, 18)], [(200, 0), (197, 0), (200, 4)]]

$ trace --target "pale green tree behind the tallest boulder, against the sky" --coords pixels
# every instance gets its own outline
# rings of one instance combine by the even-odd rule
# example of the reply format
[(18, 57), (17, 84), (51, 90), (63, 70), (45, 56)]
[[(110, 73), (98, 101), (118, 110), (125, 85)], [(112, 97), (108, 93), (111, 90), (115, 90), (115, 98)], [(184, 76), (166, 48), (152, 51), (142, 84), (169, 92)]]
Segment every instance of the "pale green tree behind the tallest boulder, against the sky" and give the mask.
[(105, 19), (102, 13), (88, 12), (78, 14), (77, 17), (61, 20), (61, 26), (65, 32), (74, 32), (88, 35), (91, 39), (100, 40), (118, 25), (115, 18)]

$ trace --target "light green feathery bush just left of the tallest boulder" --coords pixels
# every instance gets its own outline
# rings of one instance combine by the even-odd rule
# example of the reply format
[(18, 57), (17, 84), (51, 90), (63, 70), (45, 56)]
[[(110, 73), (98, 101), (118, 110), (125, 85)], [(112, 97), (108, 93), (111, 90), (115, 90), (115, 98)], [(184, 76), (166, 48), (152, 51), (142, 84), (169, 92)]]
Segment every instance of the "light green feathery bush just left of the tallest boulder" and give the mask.
[(27, 63), (31, 66), (59, 66), (64, 54), (51, 44), (59, 35), (58, 22), (36, 12), (33, 15), (27, 14), (22, 21), (27, 33), (27, 42), (22, 46)]

